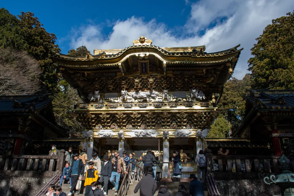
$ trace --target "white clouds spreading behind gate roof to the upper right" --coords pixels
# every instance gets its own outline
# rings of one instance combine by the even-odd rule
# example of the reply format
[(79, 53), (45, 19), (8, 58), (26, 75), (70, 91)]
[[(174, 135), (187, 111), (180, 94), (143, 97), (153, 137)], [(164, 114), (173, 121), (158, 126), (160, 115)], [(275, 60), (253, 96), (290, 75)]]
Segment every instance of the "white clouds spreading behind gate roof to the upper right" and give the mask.
[[(182, 27), (181, 37), (174, 36), (173, 29), (168, 29), (155, 19), (144, 21), (143, 18), (133, 16), (125, 21), (116, 21), (109, 35), (101, 34), (102, 27), (99, 25), (91, 24), (74, 29), (70, 45), (72, 48), (86, 45), (90, 51), (117, 49), (132, 45), (132, 41), (141, 35), (152, 39), (156, 46), (206, 45), (206, 52), (218, 52), (241, 44), (244, 50), (234, 76), (242, 79), (248, 73), (247, 61), (251, 57), (250, 48), (256, 43), (255, 38), (262, 34), (272, 19), (285, 16), (293, 9), (293, 0), (201, 0), (191, 5), (191, 17)], [(211, 27), (213, 23), (216, 25)], [(199, 30), (205, 33), (199, 35)]]

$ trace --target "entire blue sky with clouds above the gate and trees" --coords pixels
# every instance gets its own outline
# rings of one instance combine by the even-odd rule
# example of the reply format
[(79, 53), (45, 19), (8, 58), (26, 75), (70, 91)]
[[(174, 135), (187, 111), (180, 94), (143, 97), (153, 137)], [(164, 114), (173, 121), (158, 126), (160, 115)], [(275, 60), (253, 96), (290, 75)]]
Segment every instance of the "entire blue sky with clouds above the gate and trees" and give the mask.
[(173, 1), (7, 1), (11, 14), (31, 11), (47, 32), (57, 36), (62, 53), (116, 49), (146, 36), (160, 47), (206, 45), (218, 52), (238, 44), (244, 50), (234, 71), (242, 79), (250, 48), (272, 19), (294, 10), (293, 0)]

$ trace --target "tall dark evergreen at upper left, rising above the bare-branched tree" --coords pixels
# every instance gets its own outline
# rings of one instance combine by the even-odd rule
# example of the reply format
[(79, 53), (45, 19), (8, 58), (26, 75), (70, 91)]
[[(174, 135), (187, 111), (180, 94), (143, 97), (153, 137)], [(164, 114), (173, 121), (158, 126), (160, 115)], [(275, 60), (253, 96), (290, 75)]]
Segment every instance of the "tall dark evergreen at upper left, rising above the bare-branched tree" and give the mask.
[(0, 9), (0, 48), (12, 47), (27, 52), (39, 61), (40, 79), (49, 92), (59, 92), (58, 67), (49, 58), (49, 52), (60, 52), (55, 34), (48, 33), (31, 12), (21, 12), (18, 18), (8, 10)]

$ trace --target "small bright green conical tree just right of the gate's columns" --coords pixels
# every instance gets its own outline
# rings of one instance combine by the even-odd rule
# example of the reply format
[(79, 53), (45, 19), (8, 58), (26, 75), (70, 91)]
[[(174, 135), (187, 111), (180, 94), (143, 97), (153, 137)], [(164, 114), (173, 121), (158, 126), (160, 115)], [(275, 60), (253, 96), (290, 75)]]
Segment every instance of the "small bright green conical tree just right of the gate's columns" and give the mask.
[(228, 136), (232, 125), (220, 114), (210, 127), (209, 138), (223, 138)]

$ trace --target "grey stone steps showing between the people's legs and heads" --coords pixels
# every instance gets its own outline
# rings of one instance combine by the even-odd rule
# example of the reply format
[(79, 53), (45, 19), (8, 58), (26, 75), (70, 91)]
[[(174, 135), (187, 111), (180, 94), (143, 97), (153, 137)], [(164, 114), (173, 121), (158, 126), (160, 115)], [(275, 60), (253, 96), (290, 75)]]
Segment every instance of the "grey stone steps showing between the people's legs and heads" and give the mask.
[[(59, 182), (58, 182), (58, 184), (59, 184)], [(82, 185), (83, 184), (84, 184), (84, 180), (82, 181)], [(129, 188), (127, 191), (127, 196), (139, 196), (140, 195), (140, 191), (138, 191), (136, 194), (134, 193), (134, 189), (137, 184), (138, 184), (138, 182), (133, 181), (133, 185), (129, 185)], [(158, 190), (159, 190), (161, 184), (166, 184), (168, 187), (168, 191), (171, 192), (172, 195), (176, 195), (178, 192), (178, 186), (180, 184), (185, 185), (185, 187), (189, 191), (190, 182), (157, 182), (157, 189), (156, 189), (154, 196), (157, 196)], [(204, 182), (203, 182), (203, 186), (204, 186), (204, 195), (208, 196), (208, 190), (207, 190), (206, 184)], [(69, 181), (66, 181), (61, 185), (62, 191), (65, 192), (66, 195), (70, 191), (70, 189), (68, 187), (69, 187)], [(99, 185), (99, 188), (101, 188), (101, 185)], [(108, 182), (108, 195), (114, 196), (114, 191), (111, 190), (112, 188), (113, 188), (113, 185), (110, 182)], [(83, 196), (84, 193), (85, 193), (85, 189), (84, 189), (84, 186), (82, 186), (78, 195)], [(77, 196), (77, 195), (75, 194), (74, 196)]]

